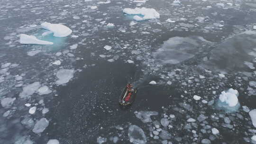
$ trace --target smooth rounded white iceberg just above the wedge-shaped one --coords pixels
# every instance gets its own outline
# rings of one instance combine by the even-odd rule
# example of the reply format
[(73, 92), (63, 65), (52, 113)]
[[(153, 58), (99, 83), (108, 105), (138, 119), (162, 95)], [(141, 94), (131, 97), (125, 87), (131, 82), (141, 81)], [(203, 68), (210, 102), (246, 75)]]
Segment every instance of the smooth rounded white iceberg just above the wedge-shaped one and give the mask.
[(51, 24), (48, 22), (44, 22), (41, 26), (51, 32), (54, 33), (56, 37), (65, 37), (69, 36), (72, 33), (72, 30), (62, 24)]

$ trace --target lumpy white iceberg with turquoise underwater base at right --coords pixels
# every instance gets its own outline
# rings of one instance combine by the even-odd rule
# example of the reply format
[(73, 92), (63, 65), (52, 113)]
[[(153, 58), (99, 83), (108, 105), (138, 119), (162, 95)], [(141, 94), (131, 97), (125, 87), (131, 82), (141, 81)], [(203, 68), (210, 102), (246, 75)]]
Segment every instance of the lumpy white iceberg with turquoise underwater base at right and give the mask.
[(235, 107), (238, 104), (238, 90), (229, 89), (227, 92), (222, 91), (219, 100), (225, 102), (229, 107)]

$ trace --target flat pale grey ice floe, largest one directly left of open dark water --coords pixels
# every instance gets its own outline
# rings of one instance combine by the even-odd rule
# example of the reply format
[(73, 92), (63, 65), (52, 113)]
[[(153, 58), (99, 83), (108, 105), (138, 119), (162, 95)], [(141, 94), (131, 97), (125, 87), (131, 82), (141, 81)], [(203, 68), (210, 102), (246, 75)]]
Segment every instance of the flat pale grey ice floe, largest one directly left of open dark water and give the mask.
[(57, 85), (62, 85), (67, 83), (73, 78), (74, 70), (71, 69), (61, 69), (56, 73), (58, 80), (55, 82)]

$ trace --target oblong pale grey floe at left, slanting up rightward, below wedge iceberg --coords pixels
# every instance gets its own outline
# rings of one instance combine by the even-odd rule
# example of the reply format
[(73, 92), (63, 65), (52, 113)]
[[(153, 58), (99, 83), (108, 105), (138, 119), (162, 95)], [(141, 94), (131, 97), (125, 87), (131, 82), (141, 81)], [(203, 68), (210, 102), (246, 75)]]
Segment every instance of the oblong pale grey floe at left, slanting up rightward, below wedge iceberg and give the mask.
[(28, 84), (27, 86), (23, 87), (23, 91), (19, 93), (19, 97), (27, 98), (28, 96), (32, 95), (36, 90), (38, 90), (40, 86), (41, 84), (39, 83), (39, 81)]

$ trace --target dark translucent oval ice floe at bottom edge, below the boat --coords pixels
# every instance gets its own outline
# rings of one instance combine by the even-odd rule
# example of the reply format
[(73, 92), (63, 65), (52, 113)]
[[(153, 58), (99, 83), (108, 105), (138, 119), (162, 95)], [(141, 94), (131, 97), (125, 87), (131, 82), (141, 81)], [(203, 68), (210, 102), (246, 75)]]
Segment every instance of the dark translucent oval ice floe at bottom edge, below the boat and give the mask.
[(129, 126), (128, 137), (133, 144), (146, 144), (146, 135), (144, 131), (136, 125)]

